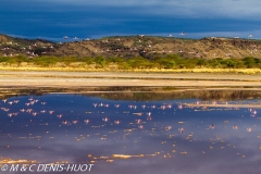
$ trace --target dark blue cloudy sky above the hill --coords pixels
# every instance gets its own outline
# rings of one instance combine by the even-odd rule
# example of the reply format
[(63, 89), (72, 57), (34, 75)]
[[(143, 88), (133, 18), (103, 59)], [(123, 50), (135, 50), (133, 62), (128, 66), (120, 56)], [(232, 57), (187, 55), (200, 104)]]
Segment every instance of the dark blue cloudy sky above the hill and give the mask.
[(258, 0), (1, 0), (0, 33), (50, 40), (152, 35), (261, 38)]

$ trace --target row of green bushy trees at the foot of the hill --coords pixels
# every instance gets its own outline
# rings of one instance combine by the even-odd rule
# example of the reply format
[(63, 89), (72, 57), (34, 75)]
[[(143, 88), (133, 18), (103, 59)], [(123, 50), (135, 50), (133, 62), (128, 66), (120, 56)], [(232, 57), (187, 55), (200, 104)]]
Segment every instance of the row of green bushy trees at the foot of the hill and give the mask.
[(110, 65), (117, 66), (119, 70), (132, 69), (261, 69), (261, 59), (246, 57), (244, 59), (201, 59), (201, 58), (181, 58), (177, 54), (159, 55), (151, 59), (144, 57), (122, 58), (122, 57), (35, 57), (27, 58), (24, 55), (17, 57), (0, 57), (0, 63), (3, 65), (21, 66), (23, 62), (27, 62), (37, 66), (55, 66), (58, 63), (63, 63), (70, 66), (72, 63), (80, 62), (86, 65), (96, 65), (97, 69), (103, 69)]

